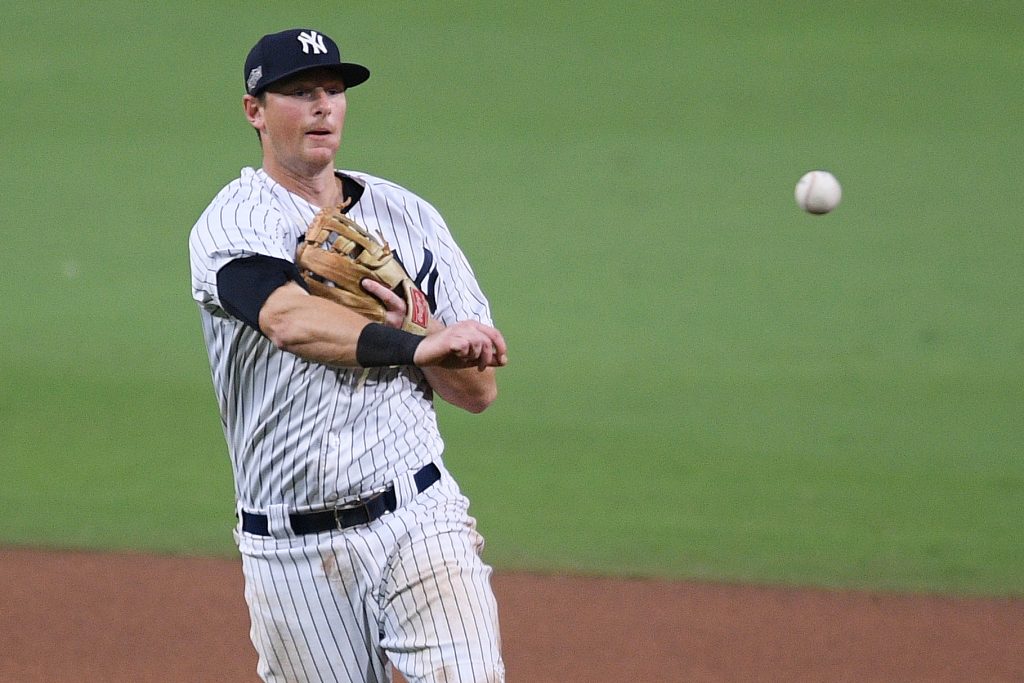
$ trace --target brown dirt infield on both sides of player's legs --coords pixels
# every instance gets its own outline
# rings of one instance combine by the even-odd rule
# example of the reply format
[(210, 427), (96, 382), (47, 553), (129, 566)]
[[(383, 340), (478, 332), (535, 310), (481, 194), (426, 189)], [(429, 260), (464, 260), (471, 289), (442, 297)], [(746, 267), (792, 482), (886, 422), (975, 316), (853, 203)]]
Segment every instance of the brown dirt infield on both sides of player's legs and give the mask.
[[(1021, 681), (1024, 600), (499, 573), (509, 680)], [(241, 566), (0, 550), (0, 681), (256, 681)]]

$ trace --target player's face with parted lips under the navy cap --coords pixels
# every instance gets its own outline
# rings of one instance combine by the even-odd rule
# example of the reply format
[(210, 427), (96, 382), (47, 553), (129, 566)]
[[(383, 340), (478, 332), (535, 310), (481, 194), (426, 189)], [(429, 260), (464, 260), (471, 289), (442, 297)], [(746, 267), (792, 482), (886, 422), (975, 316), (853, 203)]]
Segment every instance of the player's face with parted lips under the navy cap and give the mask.
[(341, 78), (312, 71), (268, 88), (250, 121), (260, 131), (264, 156), (312, 175), (326, 166), (333, 169), (346, 108)]

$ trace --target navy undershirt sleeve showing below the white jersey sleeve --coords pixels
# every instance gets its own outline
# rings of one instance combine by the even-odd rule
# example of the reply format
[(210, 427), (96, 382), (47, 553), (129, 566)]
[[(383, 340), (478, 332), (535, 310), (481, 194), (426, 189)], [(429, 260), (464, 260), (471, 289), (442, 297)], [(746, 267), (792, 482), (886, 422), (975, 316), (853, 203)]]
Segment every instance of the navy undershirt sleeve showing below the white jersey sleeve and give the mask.
[(309, 289), (291, 261), (256, 254), (222, 266), (217, 271), (217, 293), (224, 310), (263, 334), (259, 329), (260, 309), (274, 290), (290, 282)]

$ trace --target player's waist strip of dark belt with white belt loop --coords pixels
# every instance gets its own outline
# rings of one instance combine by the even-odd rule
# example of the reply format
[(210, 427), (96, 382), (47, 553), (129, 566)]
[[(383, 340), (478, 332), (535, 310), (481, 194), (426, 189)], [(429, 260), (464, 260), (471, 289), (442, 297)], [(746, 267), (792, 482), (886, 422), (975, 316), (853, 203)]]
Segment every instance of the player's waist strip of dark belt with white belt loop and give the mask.
[[(422, 494), (441, 478), (440, 469), (430, 463), (416, 472), (411, 473), (412, 496)], [(254, 536), (275, 537), (289, 531), (296, 536), (321, 533), (338, 529), (350, 528), (383, 517), (394, 512), (401, 505), (398, 481), (392, 481), (381, 489), (372, 492), (354, 501), (325, 510), (306, 512), (280, 511), (250, 512), (241, 510), (242, 530)]]

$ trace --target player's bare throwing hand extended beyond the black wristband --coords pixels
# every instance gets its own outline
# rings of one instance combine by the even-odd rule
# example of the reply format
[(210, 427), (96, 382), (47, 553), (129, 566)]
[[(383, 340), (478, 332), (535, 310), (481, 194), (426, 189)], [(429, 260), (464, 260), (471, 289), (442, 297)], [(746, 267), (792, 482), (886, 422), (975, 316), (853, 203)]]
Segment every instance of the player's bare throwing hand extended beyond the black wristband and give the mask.
[(508, 346), (502, 333), (476, 321), (463, 321), (430, 332), (416, 349), (417, 366), (441, 368), (501, 368)]

